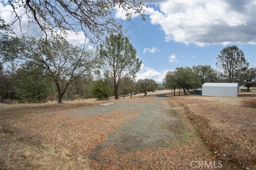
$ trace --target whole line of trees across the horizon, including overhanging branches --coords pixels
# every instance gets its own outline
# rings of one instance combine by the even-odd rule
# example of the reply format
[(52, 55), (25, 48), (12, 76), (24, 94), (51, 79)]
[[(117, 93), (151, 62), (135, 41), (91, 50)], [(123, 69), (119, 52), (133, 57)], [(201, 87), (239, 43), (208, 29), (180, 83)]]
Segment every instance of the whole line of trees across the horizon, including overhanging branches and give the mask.
[[(153, 79), (135, 82), (142, 61), (125, 36), (127, 30), (122, 22), (116, 21), (112, 15), (118, 7), (123, 9), (128, 21), (133, 13), (140, 14), (145, 21), (144, 9), (148, 7), (141, 0), (17, 0), (8, 3), (14, 18), (13, 22), (6, 23), (0, 17), (1, 102), (57, 100), (62, 103), (62, 99), (96, 97), (106, 100), (110, 95), (118, 99), (119, 94), (128, 92), (144, 92), (146, 96), (158, 87)], [(28, 26), (38, 27), (42, 37), (24, 33), (27, 30), (22, 27), (22, 18), (28, 19), (25, 23)], [(22, 37), (14, 33), (14, 23), (18, 23)], [(86, 48), (85, 43), (84, 47), (72, 45), (60, 37), (80, 31), (96, 45), (96, 50)], [(177, 67), (174, 72), (166, 74), (163, 83), (167, 88), (175, 86), (184, 91), (199, 87), (202, 83), (200, 75), (204, 75), (205, 68), (212, 70), (211, 81), (238, 81), (246, 86), (255, 83), (255, 68), (248, 67), (243, 51), (237, 46), (222, 49), (216, 65), (223, 74), (214, 74), (216, 71), (207, 65)], [(103, 75), (100, 70), (104, 70)], [(184, 73), (190, 76), (182, 76)]]

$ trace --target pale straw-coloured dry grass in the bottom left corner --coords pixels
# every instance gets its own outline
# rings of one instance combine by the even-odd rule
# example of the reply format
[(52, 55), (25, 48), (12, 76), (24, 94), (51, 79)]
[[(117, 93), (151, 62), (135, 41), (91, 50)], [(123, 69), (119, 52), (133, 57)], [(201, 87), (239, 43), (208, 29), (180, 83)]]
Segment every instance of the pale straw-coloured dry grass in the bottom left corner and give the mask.
[(21, 134), (1, 133), (0, 149), (1, 169), (90, 170), (87, 160), (77, 160), (67, 149)]

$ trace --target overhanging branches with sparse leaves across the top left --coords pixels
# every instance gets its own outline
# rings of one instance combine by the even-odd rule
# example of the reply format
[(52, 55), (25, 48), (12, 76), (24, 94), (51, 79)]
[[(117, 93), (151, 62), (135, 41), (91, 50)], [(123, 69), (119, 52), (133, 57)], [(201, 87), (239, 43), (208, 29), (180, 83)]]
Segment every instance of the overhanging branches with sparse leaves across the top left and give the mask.
[[(8, 1), (12, 6), (14, 22), (18, 22), (22, 30), (22, 18), (28, 18), (29, 25), (38, 25), (48, 36), (73, 31), (82, 31), (91, 42), (106, 36), (106, 33), (122, 33), (122, 23), (112, 17), (115, 7), (122, 8), (127, 20), (132, 13), (139, 13), (142, 20), (144, 4), (138, 0), (16, 0)], [(147, 6), (146, 6), (147, 7)], [(22, 8), (22, 10), (20, 10)], [(54, 34), (52, 34), (55, 32)]]

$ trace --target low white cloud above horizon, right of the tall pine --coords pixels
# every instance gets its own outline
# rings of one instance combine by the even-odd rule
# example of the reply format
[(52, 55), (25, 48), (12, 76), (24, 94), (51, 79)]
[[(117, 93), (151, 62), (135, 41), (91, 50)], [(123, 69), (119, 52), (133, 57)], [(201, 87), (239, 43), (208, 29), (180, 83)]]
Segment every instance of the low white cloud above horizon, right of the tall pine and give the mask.
[(156, 82), (162, 83), (166, 75), (166, 72), (168, 72), (168, 70), (159, 72), (154, 68), (146, 67), (144, 64), (142, 64), (140, 67), (140, 71), (137, 72), (136, 74), (136, 80), (148, 78), (148, 79), (153, 79)]

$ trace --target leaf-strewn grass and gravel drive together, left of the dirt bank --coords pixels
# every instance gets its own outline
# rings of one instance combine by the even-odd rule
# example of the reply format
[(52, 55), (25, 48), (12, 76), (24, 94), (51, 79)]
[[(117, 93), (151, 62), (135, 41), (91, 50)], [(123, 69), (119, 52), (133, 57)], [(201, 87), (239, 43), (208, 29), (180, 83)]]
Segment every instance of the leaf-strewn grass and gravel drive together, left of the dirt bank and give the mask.
[(1, 105), (1, 169), (183, 170), (212, 160), (168, 98), (112, 102)]

